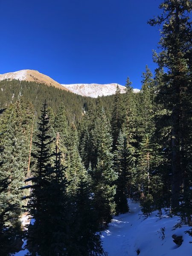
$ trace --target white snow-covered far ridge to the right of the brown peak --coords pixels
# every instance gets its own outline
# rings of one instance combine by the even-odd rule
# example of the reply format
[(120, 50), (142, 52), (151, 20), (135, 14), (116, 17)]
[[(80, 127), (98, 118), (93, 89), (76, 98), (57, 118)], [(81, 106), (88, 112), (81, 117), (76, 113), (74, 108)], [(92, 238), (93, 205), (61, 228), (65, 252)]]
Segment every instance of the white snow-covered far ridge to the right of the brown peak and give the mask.
[[(68, 88), (70, 91), (82, 96), (88, 96), (92, 98), (97, 98), (98, 96), (108, 96), (115, 94), (116, 86), (118, 85), (121, 93), (125, 93), (125, 86), (120, 84), (61, 84)], [(140, 91), (139, 89), (134, 89), (134, 92)]]

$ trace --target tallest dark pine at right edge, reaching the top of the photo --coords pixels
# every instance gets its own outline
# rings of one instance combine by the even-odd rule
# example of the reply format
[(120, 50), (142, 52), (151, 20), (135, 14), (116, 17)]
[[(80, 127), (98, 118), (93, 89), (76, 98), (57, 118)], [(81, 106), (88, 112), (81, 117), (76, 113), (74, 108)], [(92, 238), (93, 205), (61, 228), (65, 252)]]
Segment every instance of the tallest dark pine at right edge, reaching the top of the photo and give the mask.
[[(184, 194), (189, 191), (189, 172), (191, 145), (191, 22), (189, 13), (192, 10), (190, 0), (165, 0), (160, 9), (163, 14), (149, 20), (151, 26), (163, 24), (161, 32), (159, 55), (154, 53), (154, 59), (159, 67), (166, 67), (163, 76), (164, 85), (158, 93), (164, 91), (163, 103), (171, 115), (171, 164), (172, 164), (172, 209), (179, 208), (180, 187), (183, 180)], [(190, 171), (189, 171), (190, 170)], [(183, 198), (188, 200), (188, 196)], [(189, 204), (189, 209), (191, 205)], [(188, 222), (191, 222), (192, 212), (188, 212)]]

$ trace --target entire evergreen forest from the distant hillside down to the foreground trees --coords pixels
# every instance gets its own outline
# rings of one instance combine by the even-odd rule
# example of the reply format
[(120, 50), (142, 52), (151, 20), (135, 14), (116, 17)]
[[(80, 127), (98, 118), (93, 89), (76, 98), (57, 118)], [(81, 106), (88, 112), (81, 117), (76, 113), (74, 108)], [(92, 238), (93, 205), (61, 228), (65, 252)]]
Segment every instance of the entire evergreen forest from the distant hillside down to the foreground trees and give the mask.
[(192, 1), (160, 9), (148, 20), (161, 28), (157, 69), (145, 67), (138, 93), (129, 77), (125, 93), (97, 99), (0, 81), (1, 256), (23, 238), (31, 256), (105, 256), (101, 232), (127, 198), (192, 235)]

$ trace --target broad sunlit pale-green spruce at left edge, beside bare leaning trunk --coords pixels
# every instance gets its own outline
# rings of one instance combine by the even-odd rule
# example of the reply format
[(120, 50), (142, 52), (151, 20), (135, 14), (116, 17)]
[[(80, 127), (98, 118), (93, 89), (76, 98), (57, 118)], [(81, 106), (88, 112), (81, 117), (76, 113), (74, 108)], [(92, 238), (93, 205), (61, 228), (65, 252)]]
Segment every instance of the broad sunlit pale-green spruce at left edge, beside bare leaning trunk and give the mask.
[[(27, 165), (29, 157), (30, 124), (32, 122), (30, 105), (26, 107), (24, 101), (17, 101), (3, 113), (0, 121), (1, 152), (3, 165), (0, 166), (2, 178), (8, 178), (8, 188), (5, 194), (9, 204), (17, 205), (15, 211), (9, 212), (12, 225), (20, 225), (22, 213), (23, 191), (19, 188), (24, 185), (27, 177)], [(15, 224), (14, 224), (15, 223)]]

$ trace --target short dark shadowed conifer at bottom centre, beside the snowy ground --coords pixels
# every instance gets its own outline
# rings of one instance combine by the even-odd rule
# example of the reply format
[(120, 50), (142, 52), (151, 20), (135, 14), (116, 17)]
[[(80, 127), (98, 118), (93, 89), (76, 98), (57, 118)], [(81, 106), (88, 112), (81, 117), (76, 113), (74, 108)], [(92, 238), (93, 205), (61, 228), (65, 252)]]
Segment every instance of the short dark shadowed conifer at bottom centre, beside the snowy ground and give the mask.
[(70, 255), (102, 256), (106, 255), (101, 245), (99, 227), (93, 198), (91, 197), (89, 178), (81, 177), (75, 194), (75, 211), (71, 227), (72, 247)]

